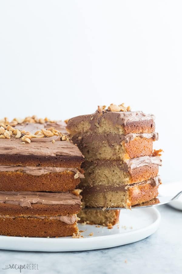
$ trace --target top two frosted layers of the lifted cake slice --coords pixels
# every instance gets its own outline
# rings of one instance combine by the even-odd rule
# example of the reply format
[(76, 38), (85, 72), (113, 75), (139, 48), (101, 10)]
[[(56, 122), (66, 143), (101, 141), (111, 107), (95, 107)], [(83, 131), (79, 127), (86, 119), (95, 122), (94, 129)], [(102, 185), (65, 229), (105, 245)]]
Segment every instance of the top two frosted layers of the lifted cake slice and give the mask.
[(86, 160), (120, 160), (149, 156), (155, 132), (154, 115), (142, 111), (96, 111), (71, 118), (67, 130)]

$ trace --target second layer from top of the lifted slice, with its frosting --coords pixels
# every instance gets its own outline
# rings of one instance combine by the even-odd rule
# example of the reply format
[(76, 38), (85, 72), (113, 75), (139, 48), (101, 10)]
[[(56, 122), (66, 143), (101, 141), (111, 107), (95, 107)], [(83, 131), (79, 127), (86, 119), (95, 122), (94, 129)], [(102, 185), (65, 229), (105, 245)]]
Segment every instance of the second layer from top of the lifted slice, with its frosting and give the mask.
[(127, 160), (148, 156), (153, 152), (153, 141), (158, 134), (84, 134), (73, 136), (72, 141), (78, 145), (87, 160)]

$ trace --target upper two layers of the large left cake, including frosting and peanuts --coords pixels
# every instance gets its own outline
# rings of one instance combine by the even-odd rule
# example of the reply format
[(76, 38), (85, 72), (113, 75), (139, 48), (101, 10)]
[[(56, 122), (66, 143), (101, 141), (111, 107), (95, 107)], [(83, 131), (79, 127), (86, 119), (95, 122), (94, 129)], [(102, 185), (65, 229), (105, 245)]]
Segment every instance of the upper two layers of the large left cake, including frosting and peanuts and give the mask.
[(0, 127), (0, 190), (72, 191), (83, 178), (83, 155), (54, 127), (35, 134)]

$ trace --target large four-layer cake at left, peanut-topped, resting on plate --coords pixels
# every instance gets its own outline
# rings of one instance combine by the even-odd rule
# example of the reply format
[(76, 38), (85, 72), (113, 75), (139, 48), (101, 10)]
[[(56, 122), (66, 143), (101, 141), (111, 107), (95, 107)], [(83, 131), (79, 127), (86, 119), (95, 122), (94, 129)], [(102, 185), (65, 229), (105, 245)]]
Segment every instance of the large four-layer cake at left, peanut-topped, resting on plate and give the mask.
[(0, 234), (76, 234), (82, 203), (80, 191), (74, 189), (84, 177), (78, 147), (54, 127), (32, 134), (5, 125), (0, 133)]

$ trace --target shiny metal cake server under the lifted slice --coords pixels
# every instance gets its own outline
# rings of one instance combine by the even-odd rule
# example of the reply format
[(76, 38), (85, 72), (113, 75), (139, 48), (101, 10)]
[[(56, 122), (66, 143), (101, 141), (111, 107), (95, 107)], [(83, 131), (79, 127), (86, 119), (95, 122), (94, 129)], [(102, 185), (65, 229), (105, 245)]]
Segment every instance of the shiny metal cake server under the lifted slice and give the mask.
[[(182, 191), (178, 192), (174, 197), (172, 196), (158, 196), (157, 198), (152, 199), (151, 201), (142, 203), (140, 205), (132, 206), (131, 208), (141, 208), (141, 207), (150, 207), (150, 206), (160, 206), (167, 204), (171, 201), (177, 200), (180, 195), (182, 194)], [(102, 207), (84, 207), (83, 209), (101, 209), (103, 210)], [(109, 207), (109, 208), (104, 208), (104, 210), (116, 210), (116, 209), (126, 209), (126, 207)]]

